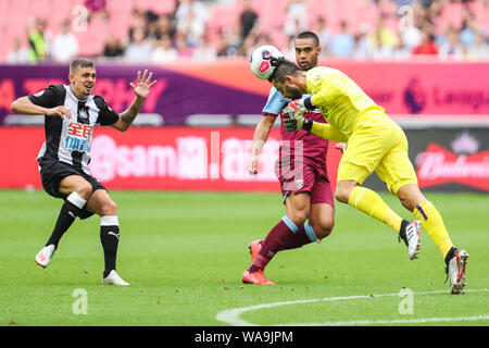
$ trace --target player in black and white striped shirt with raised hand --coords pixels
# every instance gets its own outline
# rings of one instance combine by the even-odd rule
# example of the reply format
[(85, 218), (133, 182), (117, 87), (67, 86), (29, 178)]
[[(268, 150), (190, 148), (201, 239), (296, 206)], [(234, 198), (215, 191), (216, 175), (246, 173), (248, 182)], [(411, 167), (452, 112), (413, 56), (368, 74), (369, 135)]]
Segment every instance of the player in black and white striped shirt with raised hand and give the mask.
[(86, 219), (97, 213), (101, 216), (100, 239), (105, 260), (102, 284), (129, 285), (115, 271), (117, 207), (105, 187), (90, 175), (89, 153), (93, 126), (127, 130), (155, 80), (152, 73), (138, 72), (136, 85), (130, 83), (135, 99), (126, 111), (117, 114), (102, 97), (92, 95), (96, 79), (93, 63), (77, 59), (70, 65), (70, 85), (51, 85), (36, 95), (18, 98), (11, 107), (17, 113), (45, 115), (46, 141), (37, 157), (42, 187), (49, 195), (64, 199), (51, 237), (37, 253), (36, 262), (48, 266), (76, 216)]

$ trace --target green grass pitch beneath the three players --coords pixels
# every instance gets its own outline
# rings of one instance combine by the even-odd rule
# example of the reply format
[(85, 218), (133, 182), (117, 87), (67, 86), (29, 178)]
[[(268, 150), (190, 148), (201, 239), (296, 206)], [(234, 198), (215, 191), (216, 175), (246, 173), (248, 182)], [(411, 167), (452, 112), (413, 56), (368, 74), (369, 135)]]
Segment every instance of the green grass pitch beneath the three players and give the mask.
[[(98, 216), (77, 220), (50, 266), (37, 266), (62, 201), (43, 191), (0, 191), (0, 325), (489, 323), (488, 195), (427, 194), (455, 246), (471, 254), (463, 296), (448, 293), (444, 263), (425, 233), (419, 259), (410, 261), (389, 227), (344, 204), (337, 203), (335, 229), (322, 244), (277, 253), (265, 273), (277, 286), (252, 286), (241, 283), (247, 246), (284, 215), (278, 194), (111, 196), (121, 223), (117, 271), (130, 287), (101, 285)], [(383, 197), (412, 219), (394, 197)], [(399, 297), (403, 288), (411, 295)], [(236, 308), (243, 310), (225, 312)]]

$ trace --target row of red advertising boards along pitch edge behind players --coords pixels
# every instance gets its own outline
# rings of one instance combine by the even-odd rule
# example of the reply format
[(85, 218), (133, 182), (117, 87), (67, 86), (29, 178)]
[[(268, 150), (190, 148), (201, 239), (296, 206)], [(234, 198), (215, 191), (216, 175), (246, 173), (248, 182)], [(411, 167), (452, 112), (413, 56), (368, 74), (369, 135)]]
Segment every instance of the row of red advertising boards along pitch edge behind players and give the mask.
[[(489, 128), (406, 129), (422, 189), (489, 191)], [(275, 164), (280, 134), (262, 150), (259, 174), (248, 173), (253, 128), (97, 127), (90, 172), (109, 189), (279, 191)], [(42, 127), (0, 127), (1, 188), (41, 188), (37, 153)], [(341, 153), (329, 144), (335, 187)], [(374, 174), (365, 186), (386, 189)]]

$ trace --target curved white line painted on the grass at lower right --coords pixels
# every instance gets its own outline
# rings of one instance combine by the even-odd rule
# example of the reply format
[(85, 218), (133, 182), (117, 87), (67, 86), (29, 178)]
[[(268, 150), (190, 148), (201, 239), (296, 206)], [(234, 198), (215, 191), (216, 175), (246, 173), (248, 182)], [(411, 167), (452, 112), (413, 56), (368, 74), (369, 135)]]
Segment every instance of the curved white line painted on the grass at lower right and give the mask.
[[(489, 291), (489, 289), (469, 289), (465, 293), (480, 293)], [(421, 291), (413, 293), (414, 295), (430, 295), (430, 294), (444, 294), (447, 290), (435, 290), (435, 291)], [(378, 295), (359, 295), (359, 296), (341, 296), (341, 297), (325, 297), (315, 298), (306, 300), (297, 301), (283, 301), (274, 303), (263, 303), (249, 307), (240, 307), (221, 311), (216, 314), (215, 319), (233, 326), (259, 326), (258, 324), (250, 323), (240, 318), (242, 313), (251, 312), (255, 310), (261, 310), (265, 308), (275, 308), (280, 306), (289, 304), (301, 304), (301, 303), (313, 303), (313, 302), (326, 302), (326, 301), (341, 301), (341, 300), (356, 300), (356, 299), (368, 299), (377, 297), (392, 297), (399, 296), (396, 294), (378, 294)], [(411, 319), (411, 320), (378, 320), (378, 321), (351, 321), (351, 322), (324, 322), (324, 323), (311, 323), (311, 324), (288, 324), (291, 326), (299, 325), (311, 325), (311, 326), (341, 326), (341, 325), (375, 325), (375, 324), (409, 324), (409, 323), (428, 323), (428, 322), (450, 322), (450, 321), (474, 321), (474, 320), (489, 320), (489, 314), (481, 314), (477, 316), (462, 316), (462, 318), (422, 318), (422, 319)], [(281, 326), (278, 324), (277, 326)], [(286, 325), (287, 326), (287, 325)]]

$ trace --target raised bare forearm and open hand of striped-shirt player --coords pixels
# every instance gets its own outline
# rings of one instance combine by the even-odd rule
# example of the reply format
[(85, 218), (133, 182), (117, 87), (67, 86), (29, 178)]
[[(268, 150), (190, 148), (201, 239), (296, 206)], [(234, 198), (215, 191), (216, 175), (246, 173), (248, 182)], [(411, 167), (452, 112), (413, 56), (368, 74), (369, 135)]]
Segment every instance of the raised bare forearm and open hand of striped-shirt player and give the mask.
[(141, 72), (138, 72), (136, 85), (129, 83), (130, 88), (133, 88), (136, 97), (130, 103), (129, 108), (127, 108), (127, 110), (120, 114), (118, 120), (112, 124), (112, 127), (121, 132), (126, 132), (127, 129), (129, 129), (134, 120), (136, 120), (136, 116), (141, 110), (142, 103), (148, 97), (151, 87), (156, 83), (156, 80), (151, 82), (152, 77), (153, 73), (150, 72), (148, 74), (147, 70), (145, 70), (142, 76)]

